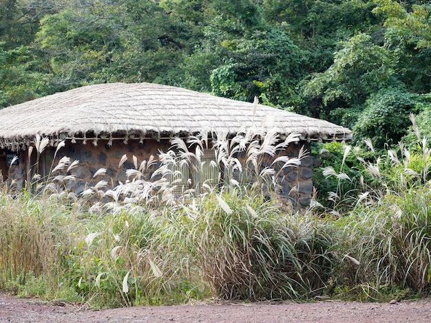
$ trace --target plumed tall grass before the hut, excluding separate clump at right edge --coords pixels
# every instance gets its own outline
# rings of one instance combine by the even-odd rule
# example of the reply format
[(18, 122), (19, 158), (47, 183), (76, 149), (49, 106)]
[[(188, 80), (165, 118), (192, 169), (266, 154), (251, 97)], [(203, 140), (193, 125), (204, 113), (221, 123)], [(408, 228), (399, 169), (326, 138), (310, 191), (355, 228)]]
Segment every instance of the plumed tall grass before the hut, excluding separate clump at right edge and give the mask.
[[(43, 277), (41, 294), (62, 287), (109, 307), (322, 293), (333, 258), (322, 221), (282, 214), (267, 201), (279, 185), (277, 172), (301, 162), (303, 151), (279, 155), (297, 137), (218, 134), (212, 145), (205, 135), (174, 139), (176, 153), (140, 162), (133, 156), (127, 181), (111, 189), (98, 170), (79, 196), (65, 190), (75, 180), (67, 171), (78, 164), (59, 159), (48, 178), (32, 174), (31, 191), (2, 196), (1, 287), (22, 277), (15, 284), (25, 289), (25, 278)], [(36, 166), (46, 144), (36, 138)], [(201, 183), (200, 192), (178, 199), (177, 181), (169, 179), (180, 174), (172, 164), (199, 170), (211, 147), (221, 184)]]

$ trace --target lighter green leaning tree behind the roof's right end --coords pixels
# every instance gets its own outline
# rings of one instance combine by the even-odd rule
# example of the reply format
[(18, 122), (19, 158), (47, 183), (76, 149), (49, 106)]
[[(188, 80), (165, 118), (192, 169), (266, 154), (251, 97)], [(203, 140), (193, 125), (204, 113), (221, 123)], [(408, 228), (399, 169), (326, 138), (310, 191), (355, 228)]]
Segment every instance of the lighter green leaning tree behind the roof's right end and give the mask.
[(396, 63), (395, 57), (385, 47), (373, 44), (367, 34), (353, 36), (335, 54), (333, 65), (303, 83), (308, 100), (321, 102), (313, 115), (352, 127), (372, 93), (400, 86)]

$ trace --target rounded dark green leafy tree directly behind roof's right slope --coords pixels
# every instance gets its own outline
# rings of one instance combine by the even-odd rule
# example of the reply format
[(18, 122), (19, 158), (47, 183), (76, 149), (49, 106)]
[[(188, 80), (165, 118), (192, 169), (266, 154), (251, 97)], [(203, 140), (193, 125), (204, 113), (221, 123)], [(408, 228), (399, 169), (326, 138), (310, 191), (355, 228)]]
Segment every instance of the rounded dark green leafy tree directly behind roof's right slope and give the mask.
[(222, 43), (227, 49), (224, 64), (211, 72), (217, 96), (288, 107), (295, 102), (301, 78), (301, 51), (282, 30), (258, 31), (248, 39)]

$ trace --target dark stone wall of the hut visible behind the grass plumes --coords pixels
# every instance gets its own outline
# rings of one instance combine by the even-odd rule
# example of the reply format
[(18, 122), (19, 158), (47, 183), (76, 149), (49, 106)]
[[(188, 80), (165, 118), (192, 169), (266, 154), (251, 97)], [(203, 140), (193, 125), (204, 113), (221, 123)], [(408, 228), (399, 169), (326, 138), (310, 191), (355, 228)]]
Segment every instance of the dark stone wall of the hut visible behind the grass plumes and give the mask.
[[(105, 145), (106, 141), (99, 140), (98, 146), (94, 146), (91, 142), (87, 144), (72, 144), (67, 142), (65, 147), (61, 148), (58, 157), (70, 157), (71, 161), (79, 160), (76, 168), (70, 171), (70, 175), (76, 177), (76, 181), (70, 181), (67, 189), (74, 190), (74, 192), (83, 192), (88, 186), (94, 186), (101, 179), (109, 179), (109, 186), (118, 183), (118, 181), (125, 181), (126, 170), (134, 168), (132, 156), (136, 156), (138, 164), (145, 159), (149, 159), (151, 155), (156, 157), (159, 151), (167, 151), (171, 146), (169, 140), (145, 140), (140, 144), (138, 140), (129, 140), (127, 144), (120, 140), (114, 140), (112, 146)], [(290, 144), (280, 155), (287, 155), (288, 157), (297, 157), (300, 149), (311, 152), (311, 144), (308, 142), (300, 142), (299, 144)], [(55, 148), (47, 149), (42, 156), (39, 164), (45, 162), (44, 168), (50, 168), (52, 163), (52, 155), (54, 155)], [(35, 151), (33, 152), (35, 154)], [(51, 157), (48, 155), (51, 154)], [(127, 155), (127, 161), (118, 168), (118, 163), (123, 155)], [(31, 167), (26, 166), (28, 160), (28, 151), (19, 152), (19, 160), (16, 165), (12, 165), (9, 169), (10, 178), (17, 181), (21, 186), (25, 183), (28, 175), (28, 169)], [(277, 157), (277, 156), (276, 156)], [(271, 160), (268, 159), (267, 166), (271, 165)], [(32, 164), (32, 163), (31, 163)], [(54, 162), (54, 166), (55, 166)], [(302, 159), (301, 166), (289, 166), (277, 171), (277, 183), (280, 183), (280, 189), (275, 192), (277, 197), (293, 201), (299, 208), (305, 208), (310, 204), (313, 194), (313, 157), (308, 153)], [(39, 172), (41, 166), (39, 165)], [(106, 168), (107, 175), (103, 178), (93, 179), (92, 177), (100, 168)], [(149, 170), (149, 174), (152, 170)], [(45, 170), (45, 172), (47, 172)], [(112, 180), (111, 180), (112, 179)], [(296, 189), (295, 189), (296, 188)], [(299, 204), (299, 205), (298, 205)]]

